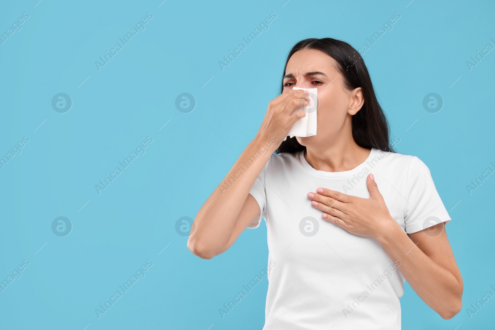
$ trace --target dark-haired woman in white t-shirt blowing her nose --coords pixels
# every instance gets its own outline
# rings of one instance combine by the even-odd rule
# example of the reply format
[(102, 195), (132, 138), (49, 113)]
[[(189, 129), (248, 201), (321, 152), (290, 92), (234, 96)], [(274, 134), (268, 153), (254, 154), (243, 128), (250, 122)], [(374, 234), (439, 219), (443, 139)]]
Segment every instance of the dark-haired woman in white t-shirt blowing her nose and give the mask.
[[(293, 87), (318, 89), (315, 136), (287, 137), (310, 101)], [(188, 247), (210, 259), (261, 218), (264, 330), (400, 329), (404, 278), (442, 318), (462, 307), (450, 217), (430, 171), (393, 150), (363, 59), (343, 41), (293, 47), (282, 93), (198, 212)]]

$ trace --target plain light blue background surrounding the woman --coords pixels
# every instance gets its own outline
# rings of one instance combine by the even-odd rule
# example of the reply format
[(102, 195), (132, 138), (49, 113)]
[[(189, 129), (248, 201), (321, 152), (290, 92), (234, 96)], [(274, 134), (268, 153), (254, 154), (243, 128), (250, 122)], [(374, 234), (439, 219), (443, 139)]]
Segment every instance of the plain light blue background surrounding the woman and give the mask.
[[(427, 164), (450, 210), (464, 280), (451, 320), (406, 284), (402, 329), (493, 327), (495, 298), (472, 318), (466, 311), (495, 293), (494, 175), (466, 189), (495, 169), (495, 50), (466, 64), (495, 46), (493, 2), (85, 1), (1, 3), (0, 32), (29, 14), (0, 45), (0, 155), (29, 138), (0, 169), (0, 279), (29, 261), (0, 292), (1, 329), (261, 329), (266, 279), (225, 318), (218, 309), (266, 266), (265, 223), (211, 260), (187, 249), (175, 223), (196, 216), (253, 139), (297, 41), (332, 37), (359, 49), (396, 12), (363, 58), (397, 151)], [(98, 70), (99, 56), (148, 12), (146, 29)], [(218, 62), (272, 12), (269, 30), (222, 71)], [(57, 93), (70, 95), (70, 111), (52, 109)], [(181, 93), (195, 97), (192, 112), (175, 107)], [(443, 98), (440, 112), (423, 108), (429, 93)], [(99, 180), (148, 136), (146, 153), (98, 194)], [(59, 216), (72, 222), (70, 235), (52, 233)], [(146, 277), (98, 318), (99, 304), (147, 260)]]

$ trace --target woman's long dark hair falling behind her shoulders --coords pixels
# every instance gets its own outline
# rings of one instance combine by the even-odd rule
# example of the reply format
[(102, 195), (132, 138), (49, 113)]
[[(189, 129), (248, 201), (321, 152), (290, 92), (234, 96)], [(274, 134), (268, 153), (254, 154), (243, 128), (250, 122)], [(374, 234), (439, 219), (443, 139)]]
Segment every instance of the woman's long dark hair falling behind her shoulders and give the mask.
[[(285, 62), (280, 93), (284, 92), (283, 77), (286, 73), (287, 63), (291, 56), (301, 49), (317, 49), (328, 54), (337, 61), (338, 67), (336, 69), (344, 76), (345, 88), (348, 90), (362, 88), (364, 104), (352, 116), (352, 137), (354, 141), (363, 148), (371, 149), (374, 147), (383, 151), (396, 152), (389, 140), (389, 123), (376, 98), (368, 69), (359, 52), (346, 42), (332, 38), (310, 38), (294, 45)], [(275, 153), (295, 153), (304, 149), (306, 147), (297, 142), (296, 137), (292, 139), (287, 137), (287, 140), (282, 141)]]

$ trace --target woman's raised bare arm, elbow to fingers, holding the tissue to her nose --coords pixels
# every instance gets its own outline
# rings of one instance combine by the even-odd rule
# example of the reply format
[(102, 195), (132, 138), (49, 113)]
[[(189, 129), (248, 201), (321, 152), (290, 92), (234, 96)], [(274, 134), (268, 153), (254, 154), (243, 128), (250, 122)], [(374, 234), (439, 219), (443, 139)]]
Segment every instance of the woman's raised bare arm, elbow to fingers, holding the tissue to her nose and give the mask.
[(303, 110), (294, 111), (308, 101), (307, 91), (287, 90), (268, 103), (258, 134), (196, 215), (187, 241), (191, 252), (203, 259), (213, 258), (256, 219), (259, 206), (254, 197), (248, 196), (249, 191), (282, 139), (306, 114)]

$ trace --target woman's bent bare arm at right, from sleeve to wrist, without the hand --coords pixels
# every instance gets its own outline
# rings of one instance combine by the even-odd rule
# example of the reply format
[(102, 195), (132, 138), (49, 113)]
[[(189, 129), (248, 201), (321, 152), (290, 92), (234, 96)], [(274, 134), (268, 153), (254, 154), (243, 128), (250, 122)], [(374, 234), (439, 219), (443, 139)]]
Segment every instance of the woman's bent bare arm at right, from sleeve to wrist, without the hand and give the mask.
[[(440, 223), (409, 238), (395, 220), (390, 223), (377, 241), (392, 260), (400, 262), (400, 273), (418, 296), (443, 319), (453, 318), (462, 308), (463, 284), (446, 226)], [(429, 235), (432, 230), (441, 234)]]

